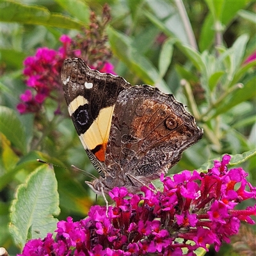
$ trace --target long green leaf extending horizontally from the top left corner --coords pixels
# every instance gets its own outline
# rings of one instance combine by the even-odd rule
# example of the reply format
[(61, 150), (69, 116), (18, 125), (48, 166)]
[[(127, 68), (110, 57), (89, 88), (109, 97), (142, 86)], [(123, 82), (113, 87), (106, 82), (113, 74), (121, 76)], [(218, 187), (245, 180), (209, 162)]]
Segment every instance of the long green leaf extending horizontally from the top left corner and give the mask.
[(0, 3), (1, 21), (19, 22), (67, 29), (81, 29), (83, 22), (66, 17), (61, 13), (50, 13), (44, 6), (28, 6), (14, 1)]

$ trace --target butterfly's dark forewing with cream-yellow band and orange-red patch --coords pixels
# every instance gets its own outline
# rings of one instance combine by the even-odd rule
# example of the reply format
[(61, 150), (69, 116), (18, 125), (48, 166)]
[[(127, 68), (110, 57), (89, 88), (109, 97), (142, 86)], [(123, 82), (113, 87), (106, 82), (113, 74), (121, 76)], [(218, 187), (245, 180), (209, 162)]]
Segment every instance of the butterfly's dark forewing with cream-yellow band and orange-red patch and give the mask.
[(61, 81), (68, 112), (95, 168), (105, 169), (106, 145), (116, 99), (130, 84), (122, 77), (101, 74), (83, 60), (65, 60)]

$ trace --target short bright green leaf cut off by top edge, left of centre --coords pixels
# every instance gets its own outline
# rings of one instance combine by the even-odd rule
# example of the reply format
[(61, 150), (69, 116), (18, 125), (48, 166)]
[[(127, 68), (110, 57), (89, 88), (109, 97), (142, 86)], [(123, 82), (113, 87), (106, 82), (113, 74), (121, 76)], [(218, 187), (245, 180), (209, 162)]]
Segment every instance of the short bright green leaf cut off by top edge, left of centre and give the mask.
[(90, 8), (89, 6), (81, 0), (55, 0), (60, 6), (67, 10), (72, 16), (81, 20), (84, 24), (90, 22)]

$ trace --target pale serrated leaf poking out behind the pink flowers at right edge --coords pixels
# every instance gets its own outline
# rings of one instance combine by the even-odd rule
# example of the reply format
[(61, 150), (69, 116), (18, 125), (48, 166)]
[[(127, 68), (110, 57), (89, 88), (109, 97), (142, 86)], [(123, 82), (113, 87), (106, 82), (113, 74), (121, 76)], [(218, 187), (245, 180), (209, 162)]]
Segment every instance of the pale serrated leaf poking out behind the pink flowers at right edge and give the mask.
[[(204, 163), (198, 169), (198, 172), (205, 172), (208, 169), (212, 168), (213, 167), (213, 161), (214, 160), (221, 161), (221, 159), (224, 155), (225, 154), (223, 154), (221, 157), (216, 157), (214, 159), (209, 159), (206, 163)], [(230, 156), (231, 156), (231, 159), (230, 159), (230, 163), (228, 164), (228, 166), (234, 166), (234, 165), (242, 164), (245, 161), (248, 161), (248, 159), (250, 159), (250, 157), (256, 156), (256, 149), (246, 151), (243, 154), (236, 154), (236, 155), (230, 155)]]

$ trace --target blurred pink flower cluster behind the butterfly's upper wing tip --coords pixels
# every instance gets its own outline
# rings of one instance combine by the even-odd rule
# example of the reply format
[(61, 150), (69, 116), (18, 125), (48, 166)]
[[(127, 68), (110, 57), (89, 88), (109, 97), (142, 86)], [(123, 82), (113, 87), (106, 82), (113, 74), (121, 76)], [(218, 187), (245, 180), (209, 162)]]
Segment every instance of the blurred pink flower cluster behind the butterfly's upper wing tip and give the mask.
[[(20, 95), (21, 102), (17, 105), (20, 114), (37, 113), (42, 108), (45, 99), (62, 95), (60, 72), (62, 63), (66, 58), (82, 58), (81, 51), (70, 50), (72, 39), (62, 35), (60, 41), (63, 44), (58, 51), (47, 47), (38, 48), (35, 56), (29, 56), (24, 60), (23, 74), (27, 77), (26, 84), (29, 87)], [(97, 69), (97, 67), (95, 67)], [(100, 72), (115, 74), (111, 63), (103, 63)], [(61, 99), (61, 97), (60, 97)], [(60, 99), (56, 99), (60, 105)], [(58, 106), (59, 109), (60, 106)]]

